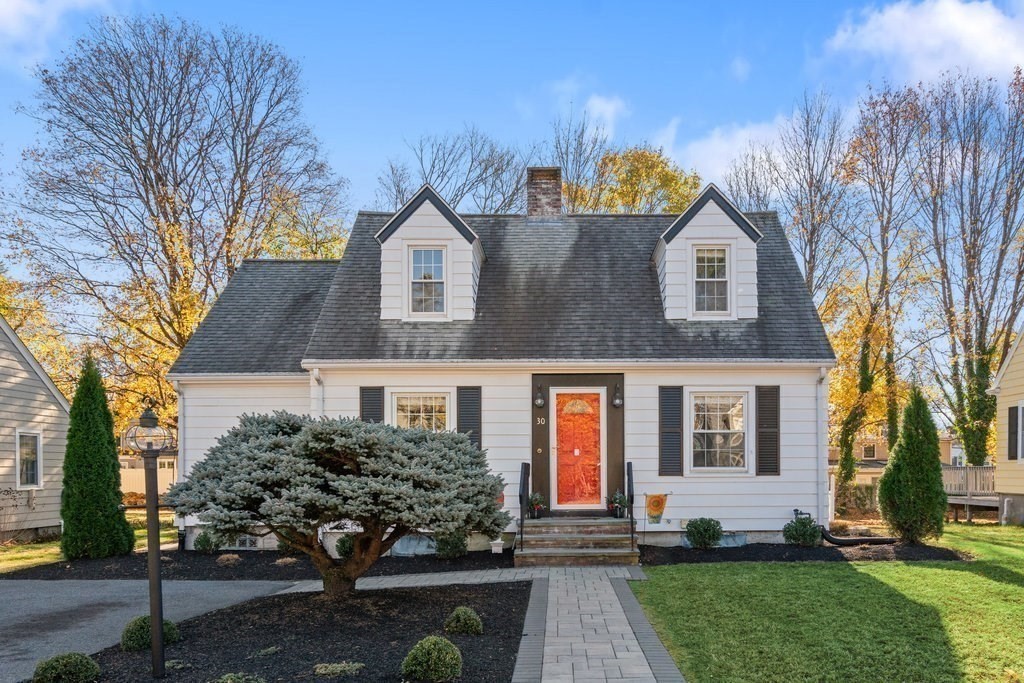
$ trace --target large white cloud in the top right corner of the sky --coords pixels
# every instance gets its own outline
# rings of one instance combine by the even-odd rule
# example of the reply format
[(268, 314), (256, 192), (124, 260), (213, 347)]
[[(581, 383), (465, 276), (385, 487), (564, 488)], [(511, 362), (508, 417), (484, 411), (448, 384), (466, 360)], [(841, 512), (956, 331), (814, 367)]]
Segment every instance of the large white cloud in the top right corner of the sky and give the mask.
[(1019, 3), (1002, 10), (989, 0), (901, 0), (847, 17), (826, 50), (911, 81), (955, 68), (1006, 78), (1024, 65), (1024, 13)]

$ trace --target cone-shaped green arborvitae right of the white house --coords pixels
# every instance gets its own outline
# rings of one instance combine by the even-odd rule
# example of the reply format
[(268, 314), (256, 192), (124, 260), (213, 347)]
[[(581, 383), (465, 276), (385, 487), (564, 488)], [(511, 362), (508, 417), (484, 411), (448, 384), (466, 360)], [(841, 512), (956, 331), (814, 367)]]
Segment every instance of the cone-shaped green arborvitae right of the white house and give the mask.
[(879, 481), (882, 518), (906, 543), (942, 535), (946, 492), (939, 457), (939, 432), (925, 395), (914, 386), (896, 449)]

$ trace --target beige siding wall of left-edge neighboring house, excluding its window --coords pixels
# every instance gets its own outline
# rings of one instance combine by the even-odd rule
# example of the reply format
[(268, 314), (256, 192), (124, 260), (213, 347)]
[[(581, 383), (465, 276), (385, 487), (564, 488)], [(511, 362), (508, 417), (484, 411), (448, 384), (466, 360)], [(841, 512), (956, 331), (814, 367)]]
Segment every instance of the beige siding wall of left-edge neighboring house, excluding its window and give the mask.
[(42, 487), (23, 490), (16, 511), (0, 522), (6, 530), (59, 526), (68, 413), (5, 334), (0, 334), (0, 489), (17, 488), (17, 431), (42, 435)]

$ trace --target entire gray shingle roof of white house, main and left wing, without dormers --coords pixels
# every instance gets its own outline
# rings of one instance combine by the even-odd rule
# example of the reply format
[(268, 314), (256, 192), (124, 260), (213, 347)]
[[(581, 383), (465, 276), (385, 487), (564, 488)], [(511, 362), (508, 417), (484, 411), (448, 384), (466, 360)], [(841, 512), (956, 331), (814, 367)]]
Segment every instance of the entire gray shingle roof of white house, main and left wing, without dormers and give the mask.
[(651, 253), (677, 216), (463, 215), (487, 254), (476, 318), (409, 323), (380, 319), (374, 234), (391, 214), (360, 212), (340, 264), (247, 262), (172, 372), (293, 372), (303, 358), (831, 360), (777, 216), (745, 215), (764, 233), (757, 319), (665, 318)]

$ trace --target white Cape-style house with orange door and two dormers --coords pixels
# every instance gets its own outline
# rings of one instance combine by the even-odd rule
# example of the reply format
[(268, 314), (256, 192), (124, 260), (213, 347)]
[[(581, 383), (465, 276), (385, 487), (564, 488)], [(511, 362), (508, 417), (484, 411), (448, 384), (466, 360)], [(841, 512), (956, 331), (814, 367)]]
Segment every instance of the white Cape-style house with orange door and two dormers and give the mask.
[(834, 365), (775, 213), (710, 185), (682, 215), (563, 214), (559, 169), (529, 169), (525, 215), (424, 186), (340, 261), (247, 261), (171, 372), (179, 472), (244, 413), (361, 417), (470, 432), (513, 517), (523, 463), (573, 515), (632, 463), (648, 542), (701, 516), (776, 540), (827, 519)]

